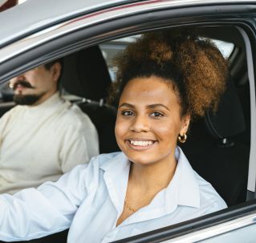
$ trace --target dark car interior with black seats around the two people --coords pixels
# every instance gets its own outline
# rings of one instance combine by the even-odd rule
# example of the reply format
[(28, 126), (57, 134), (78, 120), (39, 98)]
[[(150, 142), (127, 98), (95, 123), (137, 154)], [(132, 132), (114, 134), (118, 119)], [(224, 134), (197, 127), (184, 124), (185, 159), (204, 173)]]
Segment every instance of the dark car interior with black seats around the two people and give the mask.
[[(208, 111), (203, 118), (193, 120), (188, 140), (179, 146), (194, 170), (213, 185), (226, 204), (238, 205), (246, 201), (250, 156), (250, 83), (246, 47), (234, 26), (199, 26), (197, 33), (202, 38), (234, 45), (226, 57), (230, 62), (230, 79), (217, 111)], [(71, 102), (76, 103), (95, 124), (100, 138), (100, 153), (120, 150), (114, 134), (116, 103), (109, 104), (106, 100), (109, 87), (114, 82), (113, 53), (122, 51), (129, 41), (112, 40), (63, 57), (61, 91), (71, 97)], [(122, 43), (121, 47), (117, 43)], [(0, 115), (3, 115), (14, 103), (8, 83), (0, 89)], [(65, 242), (66, 238), (67, 230), (33, 242)]]

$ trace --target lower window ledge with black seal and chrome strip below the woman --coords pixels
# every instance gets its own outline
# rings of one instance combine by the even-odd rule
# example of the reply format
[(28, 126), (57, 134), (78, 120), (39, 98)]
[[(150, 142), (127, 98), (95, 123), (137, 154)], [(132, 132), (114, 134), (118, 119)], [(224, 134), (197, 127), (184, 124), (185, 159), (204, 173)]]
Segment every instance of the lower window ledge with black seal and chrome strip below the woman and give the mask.
[(197, 242), (252, 225), (255, 220), (256, 200), (251, 200), (242, 205), (112, 243)]

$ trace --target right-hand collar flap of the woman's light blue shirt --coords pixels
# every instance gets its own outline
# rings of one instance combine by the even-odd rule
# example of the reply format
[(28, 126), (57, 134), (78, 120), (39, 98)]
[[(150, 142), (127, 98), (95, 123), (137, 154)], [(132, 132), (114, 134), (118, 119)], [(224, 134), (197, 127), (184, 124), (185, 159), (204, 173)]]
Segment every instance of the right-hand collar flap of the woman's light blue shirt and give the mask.
[(167, 188), (158, 192), (151, 203), (140, 209), (126, 223), (147, 221), (173, 213), (178, 206), (200, 207), (197, 177), (181, 148), (175, 151), (177, 168)]

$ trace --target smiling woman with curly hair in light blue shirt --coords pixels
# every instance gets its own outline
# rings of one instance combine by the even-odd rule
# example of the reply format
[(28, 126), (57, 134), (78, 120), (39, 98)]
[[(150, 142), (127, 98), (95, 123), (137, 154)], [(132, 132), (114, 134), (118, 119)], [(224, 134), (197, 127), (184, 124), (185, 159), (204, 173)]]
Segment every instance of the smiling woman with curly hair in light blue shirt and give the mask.
[[(116, 140), (57, 182), (0, 196), (0, 239), (70, 227), (68, 242), (109, 242), (226, 208), (177, 147), (190, 119), (216, 109), (227, 64), (213, 44), (181, 32), (145, 34), (117, 59)], [(207, 161), (205, 161), (207, 163)]]

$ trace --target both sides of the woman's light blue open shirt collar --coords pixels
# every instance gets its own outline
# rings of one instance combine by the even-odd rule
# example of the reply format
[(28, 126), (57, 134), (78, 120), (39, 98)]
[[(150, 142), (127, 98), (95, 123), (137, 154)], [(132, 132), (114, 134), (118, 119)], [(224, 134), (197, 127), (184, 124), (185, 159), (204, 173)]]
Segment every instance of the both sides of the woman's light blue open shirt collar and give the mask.
[[(126, 223), (145, 221), (173, 213), (178, 205), (200, 207), (200, 191), (197, 177), (181, 148), (175, 151), (177, 168), (167, 188), (158, 192), (150, 205), (140, 209), (128, 218)], [(123, 152), (119, 152), (111, 160), (101, 165), (104, 169), (104, 180), (109, 196), (118, 214), (123, 211), (124, 198), (128, 186), (130, 162)]]

